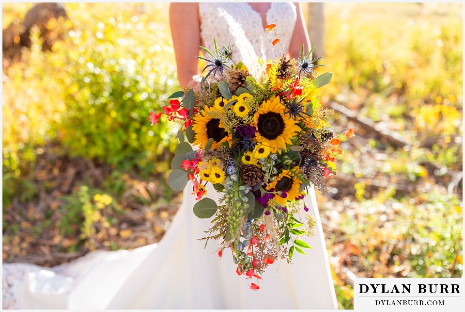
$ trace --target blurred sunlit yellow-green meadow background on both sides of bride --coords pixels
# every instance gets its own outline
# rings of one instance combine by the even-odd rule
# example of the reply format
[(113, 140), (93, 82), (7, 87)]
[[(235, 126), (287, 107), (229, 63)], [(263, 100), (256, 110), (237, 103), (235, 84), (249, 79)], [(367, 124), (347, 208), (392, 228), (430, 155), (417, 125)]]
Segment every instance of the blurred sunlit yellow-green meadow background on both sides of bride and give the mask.
[[(356, 130), (317, 192), (340, 308), (355, 277), (462, 277), (462, 4), (302, 5)], [(3, 263), (159, 241), (182, 200), (177, 129), (147, 120), (178, 90), (169, 4), (35, 6), (3, 3)]]

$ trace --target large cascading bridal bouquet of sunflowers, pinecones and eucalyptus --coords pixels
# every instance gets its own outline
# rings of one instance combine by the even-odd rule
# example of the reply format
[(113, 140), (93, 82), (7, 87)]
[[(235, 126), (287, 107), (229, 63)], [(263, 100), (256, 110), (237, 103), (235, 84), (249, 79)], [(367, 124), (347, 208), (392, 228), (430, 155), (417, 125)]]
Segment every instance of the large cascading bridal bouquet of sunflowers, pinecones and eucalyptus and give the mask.
[[(333, 111), (323, 109), (317, 96), (331, 73), (314, 71), (321, 65), (310, 57), (313, 48), (306, 54), (302, 46), (298, 60), (266, 62), (238, 37), (241, 62), (232, 61), (231, 46), (218, 49), (216, 40), (214, 51), (201, 47), (207, 56), (200, 57), (207, 72), (202, 82), (174, 93), (163, 107), (169, 120), (183, 124), (168, 184), (182, 191), (190, 181), (195, 215), (213, 217), (202, 240), (218, 240), (220, 257), (223, 249), (232, 250), (237, 274), (260, 279), (269, 264), (291, 262), (294, 251), (310, 248), (301, 239), (313, 235), (315, 225), (305, 213), (306, 189), (327, 191), (325, 179), (336, 173), (341, 148), (326, 121)], [(278, 43), (277, 36), (273, 45)], [(157, 123), (160, 116), (152, 112), (149, 120)], [(219, 205), (208, 197), (207, 183), (221, 194)]]

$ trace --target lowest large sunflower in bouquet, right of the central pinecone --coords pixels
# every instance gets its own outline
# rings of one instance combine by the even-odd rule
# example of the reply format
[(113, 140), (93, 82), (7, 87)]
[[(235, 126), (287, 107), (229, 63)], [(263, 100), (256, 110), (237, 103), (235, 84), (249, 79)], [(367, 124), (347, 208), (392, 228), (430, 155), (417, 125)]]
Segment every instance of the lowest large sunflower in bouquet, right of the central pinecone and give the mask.
[[(295, 167), (293, 170), (298, 170), (298, 167)], [(302, 182), (297, 177), (295, 177), (291, 171), (282, 170), (275, 181), (271, 182), (266, 187), (266, 189), (270, 190), (274, 188), (275, 192), (283, 192), (281, 194), (285, 194), (285, 197), (276, 194), (273, 199), (277, 201), (279, 205), (284, 206), (287, 200), (293, 201), (296, 197), (299, 197), (299, 189), (301, 184)]]

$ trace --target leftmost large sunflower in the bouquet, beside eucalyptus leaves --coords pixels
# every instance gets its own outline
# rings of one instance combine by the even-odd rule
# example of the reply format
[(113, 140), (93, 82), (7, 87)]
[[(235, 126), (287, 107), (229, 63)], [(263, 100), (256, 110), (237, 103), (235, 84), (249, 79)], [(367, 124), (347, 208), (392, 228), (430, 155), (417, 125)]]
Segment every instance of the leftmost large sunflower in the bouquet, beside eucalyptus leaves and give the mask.
[(223, 142), (232, 143), (231, 133), (228, 133), (219, 118), (212, 118), (211, 115), (218, 115), (215, 108), (205, 107), (202, 114), (197, 114), (194, 117), (194, 125), (192, 130), (195, 131), (194, 145), (199, 145), (200, 148), (205, 148), (208, 139), (213, 138), (212, 148), (216, 149)]

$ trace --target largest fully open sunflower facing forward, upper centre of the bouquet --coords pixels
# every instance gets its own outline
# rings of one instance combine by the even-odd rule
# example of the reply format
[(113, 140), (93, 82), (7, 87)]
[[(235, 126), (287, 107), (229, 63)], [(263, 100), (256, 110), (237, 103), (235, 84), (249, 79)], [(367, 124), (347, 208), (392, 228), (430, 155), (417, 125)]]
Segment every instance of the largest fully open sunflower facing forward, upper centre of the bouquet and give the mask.
[(284, 115), (285, 111), (279, 97), (275, 97), (263, 102), (253, 116), (252, 126), (257, 129), (255, 139), (269, 146), (274, 153), (278, 148), (285, 149), (286, 144), (292, 144), (291, 138), (301, 130), (295, 125), (297, 121)]

